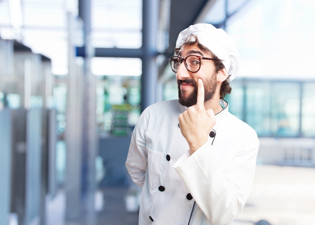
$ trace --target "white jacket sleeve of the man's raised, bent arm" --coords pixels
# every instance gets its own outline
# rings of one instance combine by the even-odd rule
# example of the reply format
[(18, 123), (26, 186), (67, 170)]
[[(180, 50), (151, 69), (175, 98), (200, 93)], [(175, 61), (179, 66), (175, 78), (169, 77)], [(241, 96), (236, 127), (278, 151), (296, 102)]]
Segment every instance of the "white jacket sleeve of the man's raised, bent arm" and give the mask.
[(237, 217), (250, 195), (254, 180), (259, 140), (248, 134), (241, 149), (222, 167), (222, 152), (209, 139), (194, 154), (182, 156), (174, 165), (197, 205), (211, 224), (228, 224)]

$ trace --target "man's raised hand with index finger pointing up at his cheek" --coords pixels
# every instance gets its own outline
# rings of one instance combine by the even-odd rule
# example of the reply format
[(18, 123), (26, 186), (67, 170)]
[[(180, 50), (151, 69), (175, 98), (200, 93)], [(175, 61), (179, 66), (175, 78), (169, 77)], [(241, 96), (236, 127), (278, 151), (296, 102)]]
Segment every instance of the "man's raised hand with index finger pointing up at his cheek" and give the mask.
[(207, 140), (215, 124), (214, 112), (204, 107), (204, 86), (201, 79), (197, 80), (197, 103), (179, 115), (179, 125), (183, 136), (186, 138), (190, 154), (193, 154)]

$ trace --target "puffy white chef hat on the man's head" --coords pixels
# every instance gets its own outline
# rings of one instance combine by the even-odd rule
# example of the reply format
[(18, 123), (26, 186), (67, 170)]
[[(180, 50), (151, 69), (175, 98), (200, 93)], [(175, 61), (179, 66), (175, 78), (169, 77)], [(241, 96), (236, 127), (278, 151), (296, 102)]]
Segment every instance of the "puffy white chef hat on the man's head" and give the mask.
[(176, 48), (180, 48), (191, 35), (197, 36), (199, 42), (222, 60), (232, 81), (239, 71), (240, 53), (233, 39), (222, 29), (211, 24), (195, 24), (179, 33)]

